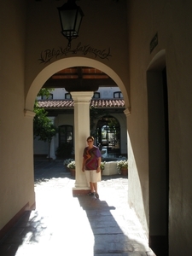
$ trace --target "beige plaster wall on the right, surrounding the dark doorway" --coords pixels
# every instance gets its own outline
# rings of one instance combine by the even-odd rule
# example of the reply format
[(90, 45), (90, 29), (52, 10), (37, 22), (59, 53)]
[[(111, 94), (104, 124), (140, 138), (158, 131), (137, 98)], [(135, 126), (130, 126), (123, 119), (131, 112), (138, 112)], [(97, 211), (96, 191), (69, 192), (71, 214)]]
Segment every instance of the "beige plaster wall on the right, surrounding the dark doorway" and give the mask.
[[(156, 58), (160, 50), (165, 49), (169, 113), (170, 255), (177, 255), (181, 249), (183, 255), (189, 255), (192, 249), (189, 241), (189, 237), (192, 237), (192, 224), (189, 222), (192, 216), (192, 146), (189, 143), (192, 131), (192, 123), (189, 121), (192, 119), (189, 110), (192, 107), (191, 9), (191, 1), (154, 3), (133, 0), (129, 1), (128, 5), (131, 85), (131, 116), (128, 119), (129, 202), (148, 230), (150, 220), (147, 71), (150, 62)], [(150, 54), (149, 44), (156, 32), (159, 44)], [(161, 64), (160, 61), (154, 70)], [(160, 217), (162, 215), (160, 214)], [(155, 228), (158, 229), (154, 227), (154, 230)]]

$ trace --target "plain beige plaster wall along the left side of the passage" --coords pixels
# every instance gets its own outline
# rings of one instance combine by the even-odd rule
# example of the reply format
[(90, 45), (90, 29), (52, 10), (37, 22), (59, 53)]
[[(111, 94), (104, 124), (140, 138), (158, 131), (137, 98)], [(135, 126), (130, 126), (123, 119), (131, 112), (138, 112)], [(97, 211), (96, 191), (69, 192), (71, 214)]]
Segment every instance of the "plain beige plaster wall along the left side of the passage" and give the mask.
[(0, 9), (0, 230), (34, 203), (32, 119), (24, 117), (26, 1)]

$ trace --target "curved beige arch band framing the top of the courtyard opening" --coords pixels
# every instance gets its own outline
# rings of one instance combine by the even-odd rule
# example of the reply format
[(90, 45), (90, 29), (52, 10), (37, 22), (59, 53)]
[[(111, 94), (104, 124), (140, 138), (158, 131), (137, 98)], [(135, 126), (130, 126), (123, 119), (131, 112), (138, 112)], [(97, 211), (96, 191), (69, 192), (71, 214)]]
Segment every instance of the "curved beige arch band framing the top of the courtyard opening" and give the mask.
[(113, 71), (112, 68), (108, 67), (107, 65), (103, 64), (100, 61), (96, 61), (93, 59), (85, 58), (85, 57), (70, 57), (61, 59), (59, 61), (55, 61), (49, 66), (44, 67), (44, 69), (38, 73), (37, 77), (32, 81), (30, 89), (26, 94), (26, 111), (32, 111), (35, 98), (38, 94), (38, 91), (41, 89), (43, 84), (49, 79), (49, 77), (61, 69), (65, 69), (68, 67), (78, 67), (78, 66), (86, 66), (86, 67), (95, 67), (101, 70), (104, 73), (107, 73), (108, 76), (113, 79), (113, 81), (119, 86), (120, 90), (123, 93), (124, 100), (125, 100), (125, 108), (130, 108), (129, 104), (129, 97), (127, 95), (127, 91), (125, 90), (125, 84), (119, 78), (119, 75)]

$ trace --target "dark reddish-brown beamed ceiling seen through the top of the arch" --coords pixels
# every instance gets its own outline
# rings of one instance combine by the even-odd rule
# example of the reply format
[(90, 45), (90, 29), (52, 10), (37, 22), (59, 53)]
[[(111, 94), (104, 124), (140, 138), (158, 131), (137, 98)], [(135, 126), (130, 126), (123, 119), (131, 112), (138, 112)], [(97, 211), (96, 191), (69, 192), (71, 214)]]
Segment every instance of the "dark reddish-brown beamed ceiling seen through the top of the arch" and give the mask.
[(99, 87), (117, 86), (106, 73), (93, 67), (70, 67), (53, 74), (44, 88), (65, 88), (67, 91), (96, 91)]

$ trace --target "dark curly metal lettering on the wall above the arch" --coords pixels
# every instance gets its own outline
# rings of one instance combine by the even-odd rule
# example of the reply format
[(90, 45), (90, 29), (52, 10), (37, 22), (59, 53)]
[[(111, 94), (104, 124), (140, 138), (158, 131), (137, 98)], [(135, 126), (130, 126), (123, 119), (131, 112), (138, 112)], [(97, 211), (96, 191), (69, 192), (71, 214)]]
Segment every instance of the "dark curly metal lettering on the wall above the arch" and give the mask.
[(111, 57), (112, 55), (110, 54), (110, 48), (108, 49), (96, 49), (94, 47), (91, 47), (90, 44), (86, 44), (83, 45), (81, 43), (79, 43), (77, 45), (77, 47), (75, 47), (74, 49), (71, 48), (58, 48), (58, 49), (45, 49), (41, 52), (41, 57), (40, 59), (38, 59), (38, 61), (40, 61), (40, 63), (48, 63), (50, 62), (52, 59), (58, 59), (61, 56), (67, 56), (69, 54), (71, 55), (76, 55), (78, 53), (81, 53), (82, 55), (93, 55), (95, 58), (100, 58), (102, 60), (107, 59), (109, 60), (109, 57)]

